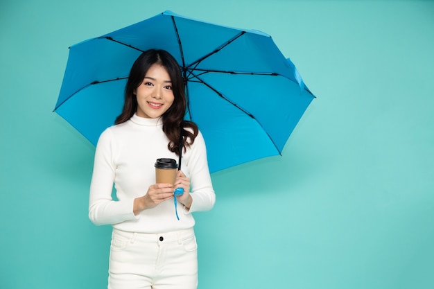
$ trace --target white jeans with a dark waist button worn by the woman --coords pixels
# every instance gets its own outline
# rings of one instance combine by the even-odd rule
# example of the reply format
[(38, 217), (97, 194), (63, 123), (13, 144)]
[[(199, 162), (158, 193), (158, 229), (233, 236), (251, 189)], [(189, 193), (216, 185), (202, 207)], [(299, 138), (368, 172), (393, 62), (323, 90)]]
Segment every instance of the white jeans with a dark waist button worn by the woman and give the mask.
[(193, 229), (141, 234), (113, 229), (108, 289), (196, 289)]

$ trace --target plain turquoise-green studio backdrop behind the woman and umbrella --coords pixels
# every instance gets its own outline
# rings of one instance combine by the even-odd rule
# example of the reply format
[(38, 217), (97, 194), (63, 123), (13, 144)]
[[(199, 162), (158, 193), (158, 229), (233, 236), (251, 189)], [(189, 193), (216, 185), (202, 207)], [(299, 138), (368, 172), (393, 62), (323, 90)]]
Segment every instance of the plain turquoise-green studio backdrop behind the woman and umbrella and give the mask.
[(284, 0), (0, 1), (0, 288), (106, 288), (94, 147), (52, 110), (68, 46), (164, 10), (272, 35), (317, 96), (212, 175), (199, 288), (434, 288), (434, 2)]

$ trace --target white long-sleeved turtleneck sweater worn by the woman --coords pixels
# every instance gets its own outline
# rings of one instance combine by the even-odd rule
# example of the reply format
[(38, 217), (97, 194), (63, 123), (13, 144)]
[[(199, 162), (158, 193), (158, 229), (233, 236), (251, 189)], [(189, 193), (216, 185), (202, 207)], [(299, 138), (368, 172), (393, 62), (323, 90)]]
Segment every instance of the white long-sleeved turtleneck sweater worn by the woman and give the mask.
[[(189, 210), (173, 199), (156, 207), (133, 213), (134, 198), (146, 195), (155, 184), (155, 161), (177, 160), (168, 150), (161, 119), (145, 119), (134, 114), (129, 121), (107, 128), (100, 136), (95, 152), (90, 186), (89, 218), (96, 225), (112, 225), (123, 231), (162, 233), (193, 227), (194, 211), (214, 207), (216, 195), (209, 175), (205, 141), (199, 132), (193, 145), (182, 155), (182, 172), (190, 178), (193, 203)], [(113, 183), (117, 200), (112, 199)]]

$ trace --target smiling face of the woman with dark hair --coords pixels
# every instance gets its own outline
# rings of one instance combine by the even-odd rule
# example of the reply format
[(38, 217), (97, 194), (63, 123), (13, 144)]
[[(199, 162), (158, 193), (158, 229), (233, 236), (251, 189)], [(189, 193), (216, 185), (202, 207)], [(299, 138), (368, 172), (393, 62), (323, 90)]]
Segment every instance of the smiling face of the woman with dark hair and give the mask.
[(172, 82), (166, 69), (153, 64), (146, 72), (144, 80), (134, 90), (137, 97), (137, 116), (155, 119), (171, 107), (173, 96)]

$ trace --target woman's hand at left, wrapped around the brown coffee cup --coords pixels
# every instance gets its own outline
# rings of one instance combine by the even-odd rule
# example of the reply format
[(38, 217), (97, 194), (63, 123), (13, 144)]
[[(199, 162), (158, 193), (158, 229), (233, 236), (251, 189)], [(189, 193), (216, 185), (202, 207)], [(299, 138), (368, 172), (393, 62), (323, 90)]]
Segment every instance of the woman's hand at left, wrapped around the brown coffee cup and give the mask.
[(149, 186), (146, 195), (134, 199), (134, 215), (137, 216), (141, 211), (153, 208), (171, 198), (173, 198), (172, 184), (153, 184)]

